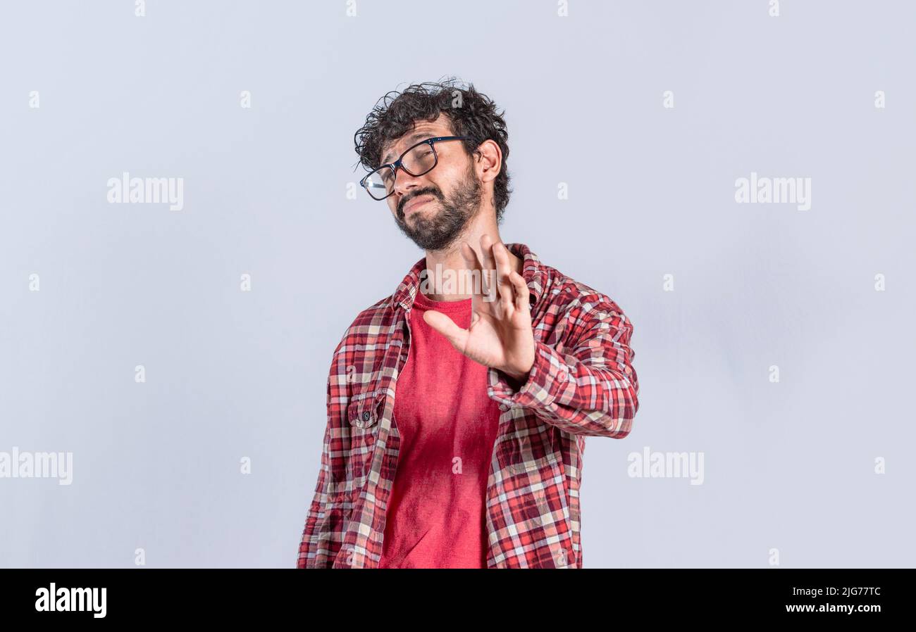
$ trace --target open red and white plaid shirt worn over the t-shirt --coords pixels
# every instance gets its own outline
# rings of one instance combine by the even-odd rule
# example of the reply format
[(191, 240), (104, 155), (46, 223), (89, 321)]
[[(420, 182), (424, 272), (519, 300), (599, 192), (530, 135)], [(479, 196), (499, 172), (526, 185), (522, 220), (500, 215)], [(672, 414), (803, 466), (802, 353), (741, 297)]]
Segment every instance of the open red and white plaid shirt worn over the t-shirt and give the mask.
[[(537, 353), (515, 391), (489, 370), (500, 403), (486, 489), (488, 568), (581, 568), (579, 488), (585, 437), (622, 439), (638, 403), (633, 326), (605, 295), (550, 266), (524, 244)], [(409, 318), (421, 259), (394, 295), (365, 309), (334, 351), (328, 422), (299, 547), (299, 568), (376, 568), (398, 464), (393, 422), (398, 373), (408, 357)]]

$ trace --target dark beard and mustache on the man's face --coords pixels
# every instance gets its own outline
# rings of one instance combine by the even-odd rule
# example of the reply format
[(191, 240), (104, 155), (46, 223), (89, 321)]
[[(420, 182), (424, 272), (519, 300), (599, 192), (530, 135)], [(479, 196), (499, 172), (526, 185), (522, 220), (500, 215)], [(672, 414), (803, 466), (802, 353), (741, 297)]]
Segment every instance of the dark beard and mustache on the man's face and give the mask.
[[(439, 202), (440, 209), (435, 212), (417, 211), (408, 222), (404, 216), (404, 207), (413, 198), (430, 195)], [(395, 221), (398, 228), (411, 241), (425, 251), (441, 251), (451, 246), (461, 237), (463, 230), (480, 210), (480, 199), (483, 187), (477, 179), (473, 168), (468, 169), (463, 181), (455, 187), (452, 195), (445, 198), (437, 187), (426, 187), (415, 191), (409, 198), (398, 204)]]

